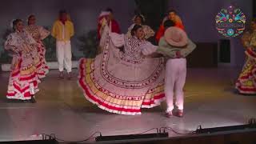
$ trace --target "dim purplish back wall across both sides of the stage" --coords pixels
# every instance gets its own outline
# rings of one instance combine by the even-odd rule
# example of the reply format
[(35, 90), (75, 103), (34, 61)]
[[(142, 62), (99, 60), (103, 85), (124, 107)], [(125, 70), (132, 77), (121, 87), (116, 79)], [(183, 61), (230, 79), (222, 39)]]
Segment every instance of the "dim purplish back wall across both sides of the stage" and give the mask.
[[(70, 12), (74, 21), (76, 37), (85, 34), (89, 30), (96, 29), (98, 14), (106, 7), (114, 10), (122, 32), (126, 33), (131, 24), (134, 10), (138, 8), (134, 0), (2, 0), (0, 5), (0, 34), (10, 27), (13, 18), (26, 19), (28, 14), (36, 14), (38, 24), (51, 26), (58, 16), (58, 10), (66, 9)], [(150, 2), (148, 0), (147, 2)], [(174, 8), (182, 18), (186, 26), (186, 32), (194, 42), (218, 42), (222, 35), (215, 29), (215, 15), (222, 8), (230, 6), (230, 3), (238, 6), (246, 14), (248, 21), (253, 14), (253, 0), (170, 0), (169, 8)], [(154, 11), (154, 9), (152, 9)], [(159, 14), (162, 17), (162, 14)], [(1, 41), (1, 40), (0, 40)], [(244, 49), (240, 37), (230, 38), (231, 64), (230, 66), (242, 66), (244, 62)], [(74, 54), (81, 56), (78, 51), (76, 38), (73, 40)], [(207, 49), (207, 47), (205, 48)], [(2, 45), (0, 45), (0, 51)]]

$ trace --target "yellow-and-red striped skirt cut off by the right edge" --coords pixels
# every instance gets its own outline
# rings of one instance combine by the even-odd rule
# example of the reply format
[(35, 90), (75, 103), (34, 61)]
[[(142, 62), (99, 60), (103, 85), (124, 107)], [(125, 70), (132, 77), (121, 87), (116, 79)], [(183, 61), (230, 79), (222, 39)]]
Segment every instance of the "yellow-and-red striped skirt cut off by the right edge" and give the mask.
[(235, 87), (241, 94), (256, 94), (256, 52), (254, 48), (248, 48), (246, 56), (246, 63)]

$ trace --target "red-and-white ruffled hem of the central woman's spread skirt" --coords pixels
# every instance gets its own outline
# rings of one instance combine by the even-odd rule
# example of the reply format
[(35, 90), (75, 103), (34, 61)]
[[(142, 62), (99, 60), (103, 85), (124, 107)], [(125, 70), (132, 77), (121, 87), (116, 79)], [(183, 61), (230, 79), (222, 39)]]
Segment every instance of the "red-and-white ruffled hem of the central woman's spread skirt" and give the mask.
[(143, 99), (122, 99), (122, 96), (119, 98), (119, 96), (107, 95), (107, 93), (104, 93), (106, 91), (95, 86), (98, 85), (97, 83), (91, 81), (90, 73), (92, 73), (90, 62), (86, 58), (81, 58), (79, 61), (78, 86), (82, 88), (83, 94), (89, 102), (110, 113), (141, 114), (141, 108), (159, 106), (160, 102), (165, 99), (162, 86), (156, 86), (146, 96), (143, 96)]

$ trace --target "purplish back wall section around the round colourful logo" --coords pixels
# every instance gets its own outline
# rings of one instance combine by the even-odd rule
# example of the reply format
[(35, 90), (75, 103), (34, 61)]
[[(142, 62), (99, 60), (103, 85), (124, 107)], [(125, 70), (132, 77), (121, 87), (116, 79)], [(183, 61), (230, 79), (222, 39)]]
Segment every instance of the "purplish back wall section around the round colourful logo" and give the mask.
[[(182, 22), (186, 26), (186, 32), (195, 42), (218, 42), (219, 39), (224, 37), (218, 34), (215, 29), (215, 15), (222, 8), (234, 4), (234, 6), (242, 9), (248, 19), (247, 23), (250, 23), (253, 14), (252, 2), (253, 0), (173, 0), (170, 1), (169, 7), (178, 11), (178, 14), (182, 17)], [(230, 66), (241, 67), (244, 63), (245, 54), (240, 38), (241, 36), (228, 38), (231, 46)]]

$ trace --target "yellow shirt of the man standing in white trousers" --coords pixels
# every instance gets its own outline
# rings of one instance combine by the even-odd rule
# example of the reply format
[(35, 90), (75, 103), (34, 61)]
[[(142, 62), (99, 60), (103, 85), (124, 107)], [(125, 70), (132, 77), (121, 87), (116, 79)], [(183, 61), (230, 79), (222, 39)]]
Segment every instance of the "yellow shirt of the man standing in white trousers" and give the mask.
[(61, 21), (57, 20), (54, 22), (51, 35), (58, 41), (70, 41), (70, 38), (74, 35), (73, 23), (66, 21), (64, 25)]

